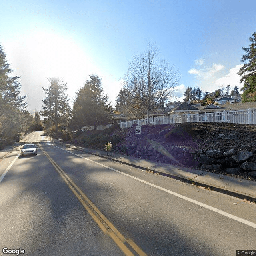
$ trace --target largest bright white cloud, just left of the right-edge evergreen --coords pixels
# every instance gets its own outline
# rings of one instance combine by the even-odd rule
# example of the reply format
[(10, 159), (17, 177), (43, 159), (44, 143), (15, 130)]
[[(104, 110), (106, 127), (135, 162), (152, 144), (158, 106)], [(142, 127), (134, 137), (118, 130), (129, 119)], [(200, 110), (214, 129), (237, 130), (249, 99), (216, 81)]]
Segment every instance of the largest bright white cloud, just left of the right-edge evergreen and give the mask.
[(242, 88), (243, 84), (240, 84), (240, 76), (238, 76), (237, 74), (242, 66), (243, 65), (236, 65), (234, 68), (230, 68), (229, 73), (221, 78), (218, 78), (215, 81), (215, 84), (217, 86), (227, 86), (228, 84), (230, 84), (231, 88), (233, 88), (235, 85), (238, 88)]

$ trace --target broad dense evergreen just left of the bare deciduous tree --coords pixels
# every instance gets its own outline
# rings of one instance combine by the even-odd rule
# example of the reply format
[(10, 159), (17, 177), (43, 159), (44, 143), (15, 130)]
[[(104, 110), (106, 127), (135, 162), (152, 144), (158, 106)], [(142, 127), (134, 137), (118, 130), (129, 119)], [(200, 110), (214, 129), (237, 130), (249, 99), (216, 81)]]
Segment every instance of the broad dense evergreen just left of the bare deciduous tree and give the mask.
[(113, 108), (108, 103), (108, 96), (103, 94), (101, 78), (96, 74), (90, 76), (76, 93), (72, 114), (73, 126), (94, 126), (94, 130), (112, 119)]

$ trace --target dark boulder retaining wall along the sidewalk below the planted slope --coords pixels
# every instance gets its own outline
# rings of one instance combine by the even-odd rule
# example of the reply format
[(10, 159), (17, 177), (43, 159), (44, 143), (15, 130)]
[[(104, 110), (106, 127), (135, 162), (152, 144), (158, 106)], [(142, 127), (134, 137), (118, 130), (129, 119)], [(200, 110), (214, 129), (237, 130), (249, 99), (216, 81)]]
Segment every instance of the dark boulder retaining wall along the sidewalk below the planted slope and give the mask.
[[(124, 153), (128, 155), (137, 154), (136, 145), (118, 145), (114, 146), (114, 152)], [(226, 152), (220, 150), (204, 150), (181, 148), (178, 146), (167, 146), (163, 148), (140, 147), (139, 157), (142, 159), (160, 161), (160, 162), (179, 162), (186, 166), (194, 168), (201, 167), (208, 170), (224, 170), (231, 174), (238, 172), (248, 172), (249, 175), (256, 176), (256, 164), (248, 162), (252, 157), (252, 152), (239, 151), (230, 149)]]

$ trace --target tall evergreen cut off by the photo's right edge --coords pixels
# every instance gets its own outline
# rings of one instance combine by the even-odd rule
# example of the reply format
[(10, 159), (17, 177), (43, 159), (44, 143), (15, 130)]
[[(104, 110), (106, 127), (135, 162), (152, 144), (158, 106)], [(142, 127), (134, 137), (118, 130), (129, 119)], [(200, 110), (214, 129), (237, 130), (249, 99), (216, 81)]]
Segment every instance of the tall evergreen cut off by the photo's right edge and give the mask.
[(256, 32), (252, 33), (249, 40), (251, 42), (249, 47), (242, 47), (246, 54), (242, 56), (241, 61), (246, 63), (237, 73), (242, 77), (240, 83), (244, 82), (241, 89), (244, 91), (242, 94), (243, 102), (256, 101)]

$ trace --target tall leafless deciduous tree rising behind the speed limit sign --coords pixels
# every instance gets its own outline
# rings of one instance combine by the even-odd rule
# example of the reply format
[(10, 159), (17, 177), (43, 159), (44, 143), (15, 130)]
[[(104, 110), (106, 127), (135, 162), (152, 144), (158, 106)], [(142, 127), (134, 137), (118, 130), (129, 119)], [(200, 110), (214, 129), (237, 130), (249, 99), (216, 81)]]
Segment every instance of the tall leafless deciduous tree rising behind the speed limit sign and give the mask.
[(130, 91), (134, 102), (149, 114), (163, 100), (174, 98), (180, 73), (169, 68), (168, 62), (158, 59), (156, 45), (148, 44), (146, 52), (134, 56), (124, 80), (124, 88)]

